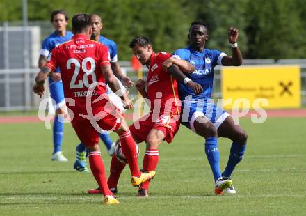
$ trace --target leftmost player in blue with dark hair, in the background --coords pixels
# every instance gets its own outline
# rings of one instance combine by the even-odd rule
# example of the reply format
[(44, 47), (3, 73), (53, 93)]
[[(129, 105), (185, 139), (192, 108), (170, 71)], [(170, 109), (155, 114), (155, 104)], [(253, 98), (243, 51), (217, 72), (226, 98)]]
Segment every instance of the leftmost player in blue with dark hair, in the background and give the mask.
[[(63, 10), (54, 10), (51, 13), (51, 24), (54, 26), (54, 33), (51, 33), (42, 43), (42, 49), (40, 50), (40, 58), (38, 61), (38, 67), (41, 69), (47, 62), (47, 56), (54, 47), (57, 47), (61, 43), (70, 40), (73, 34), (70, 31), (66, 31), (68, 24), (68, 17)], [(67, 158), (63, 155), (61, 151), (62, 141), (63, 141), (63, 119), (61, 119), (61, 114), (65, 114), (65, 99), (63, 84), (61, 81), (61, 75), (59, 70), (52, 73), (49, 77), (49, 90), (51, 93), (51, 98), (55, 100), (56, 105), (56, 116), (54, 118), (53, 125), (53, 145), (54, 151), (51, 160), (55, 161), (67, 161)]]

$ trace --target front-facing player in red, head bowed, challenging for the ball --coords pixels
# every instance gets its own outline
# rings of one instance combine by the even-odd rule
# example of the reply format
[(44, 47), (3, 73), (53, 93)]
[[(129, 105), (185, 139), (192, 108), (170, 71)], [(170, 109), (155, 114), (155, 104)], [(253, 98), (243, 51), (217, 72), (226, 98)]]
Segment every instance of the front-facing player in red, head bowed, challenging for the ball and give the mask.
[[(136, 82), (136, 88), (143, 95), (143, 98), (147, 98), (151, 102), (150, 113), (134, 122), (129, 129), (137, 143), (145, 141), (147, 144), (143, 159), (143, 170), (155, 171), (159, 160), (157, 149), (159, 144), (163, 140), (170, 143), (179, 129), (181, 107), (176, 79), (181, 82), (188, 79), (179, 68), (186, 72), (193, 72), (194, 68), (186, 61), (177, 61), (170, 58), (171, 55), (166, 52), (154, 53), (150, 40), (145, 37), (134, 38), (129, 47), (133, 49), (140, 63), (147, 65), (147, 68), (149, 68), (147, 91), (145, 91), (145, 81), (142, 79)], [(166, 61), (167, 59), (169, 60)], [(164, 61), (166, 61), (166, 64), (163, 65)], [(179, 65), (179, 68), (177, 65)], [(196, 94), (202, 91), (202, 87), (195, 82), (189, 81), (188, 86)], [(113, 192), (117, 192), (117, 183), (124, 166), (125, 164), (119, 162), (113, 155), (111, 175), (108, 178), (108, 187)], [(142, 183), (138, 190), (138, 196), (148, 196), (148, 187), (149, 181)], [(99, 189), (88, 190), (88, 192), (97, 193)]]

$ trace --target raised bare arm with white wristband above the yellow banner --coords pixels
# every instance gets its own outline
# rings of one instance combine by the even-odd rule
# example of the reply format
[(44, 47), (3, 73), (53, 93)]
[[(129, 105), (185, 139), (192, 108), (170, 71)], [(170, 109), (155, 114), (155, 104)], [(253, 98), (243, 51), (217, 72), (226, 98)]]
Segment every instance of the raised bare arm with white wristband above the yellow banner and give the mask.
[(232, 46), (232, 56), (223, 56), (222, 65), (224, 66), (240, 66), (242, 64), (242, 54), (236, 44), (238, 35), (238, 29), (231, 27), (228, 32), (228, 40)]

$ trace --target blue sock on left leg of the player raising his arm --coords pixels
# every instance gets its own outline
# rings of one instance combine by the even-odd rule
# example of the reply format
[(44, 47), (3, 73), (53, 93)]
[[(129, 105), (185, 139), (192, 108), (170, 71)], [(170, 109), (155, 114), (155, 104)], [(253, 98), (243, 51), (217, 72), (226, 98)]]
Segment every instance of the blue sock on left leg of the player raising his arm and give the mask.
[(218, 137), (207, 137), (205, 139), (205, 153), (216, 181), (221, 177)]

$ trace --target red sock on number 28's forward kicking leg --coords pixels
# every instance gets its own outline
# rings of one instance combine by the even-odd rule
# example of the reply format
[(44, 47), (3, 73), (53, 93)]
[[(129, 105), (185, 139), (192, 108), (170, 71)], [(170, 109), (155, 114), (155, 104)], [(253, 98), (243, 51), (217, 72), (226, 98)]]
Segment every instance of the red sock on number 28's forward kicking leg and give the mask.
[(127, 158), (127, 162), (129, 164), (129, 170), (131, 171), (131, 176), (140, 177), (140, 170), (138, 167), (138, 156), (136, 151), (136, 144), (131, 137), (131, 132), (126, 132), (122, 134), (120, 137), (120, 143), (122, 148), (122, 153)]

